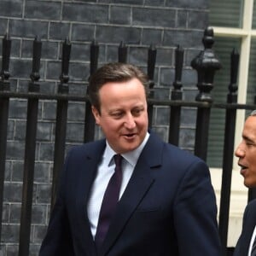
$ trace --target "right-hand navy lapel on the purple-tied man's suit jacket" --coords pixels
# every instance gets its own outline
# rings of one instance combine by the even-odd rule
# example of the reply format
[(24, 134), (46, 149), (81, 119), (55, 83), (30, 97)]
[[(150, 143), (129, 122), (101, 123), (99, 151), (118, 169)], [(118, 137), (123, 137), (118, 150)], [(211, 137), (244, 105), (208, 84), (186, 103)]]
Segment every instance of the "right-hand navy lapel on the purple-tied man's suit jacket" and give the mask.
[(161, 164), (162, 143), (151, 135), (148, 143), (137, 161), (131, 179), (122, 195), (117, 212), (113, 217), (113, 222), (109, 226), (108, 234), (102, 245), (99, 255), (108, 253), (114, 241), (119, 237), (121, 231), (125, 228), (125, 224), (131, 218), (132, 213), (136, 210), (143, 197), (147, 195), (148, 190), (154, 183), (154, 177), (151, 177), (150, 171), (155, 166)]

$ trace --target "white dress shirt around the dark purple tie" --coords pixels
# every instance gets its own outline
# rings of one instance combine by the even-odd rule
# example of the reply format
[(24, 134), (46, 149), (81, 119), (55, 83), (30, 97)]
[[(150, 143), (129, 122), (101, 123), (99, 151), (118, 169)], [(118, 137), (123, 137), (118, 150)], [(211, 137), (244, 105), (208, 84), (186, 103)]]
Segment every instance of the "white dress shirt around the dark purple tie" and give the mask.
[[(131, 174), (134, 170), (134, 167), (137, 164), (137, 160), (140, 154), (142, 153), (145, 144), (148, 142), (148, 137), (149, 137), (149, 134), (147, 132), (143, 140), (143, 143), (141, 143), (138, 148), (136, 148), (131, 152), (122, 154), (124, 158), (124, 160), (122, 161), (123, 178), (122, 178), (122, 183), (121, 183), (121, 188), (119, 193), (119, 199), (121, 198), (121, 196), (125, 191), (127, 183), (131, 178)], [(114, 167), (115, 167), (114, 161), (113, 161), (114, 154), (116, 153), (113, 151), (112, 148), (110, 148), (107, 142), (107, 146), (102, 155), (102, 161), (98, 166), (96, 178), (92, 184), (92, 189), (90, 191), (90, 198), (87, 205), (87, 212), (88, 212), (88, 218), (90, 221), (90, 230), (93, 237), (95, 237), (96, 235), (96, 227), (98, 223), (100, 209), (102, 206), (103, 195), (105, 193), (105, 190), (107, 189), (109, 179), (110, 177), (112, 177), (114, 172)]]

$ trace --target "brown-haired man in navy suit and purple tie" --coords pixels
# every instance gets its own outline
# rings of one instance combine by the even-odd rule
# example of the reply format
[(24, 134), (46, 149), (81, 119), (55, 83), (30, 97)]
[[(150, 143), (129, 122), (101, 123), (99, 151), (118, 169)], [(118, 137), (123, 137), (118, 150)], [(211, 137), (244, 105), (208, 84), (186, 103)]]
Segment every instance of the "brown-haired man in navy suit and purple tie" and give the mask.
[[(105, 138), (67, 154), (40, 256), (220, 255), (207, 165), (148, 131), (147, 86), (129, 64), (107, 64), (90, 78), (92, 112)], [(106, 214), (108, 180), (120, 169), (116, 154), (123, 159), (119, 202)]]

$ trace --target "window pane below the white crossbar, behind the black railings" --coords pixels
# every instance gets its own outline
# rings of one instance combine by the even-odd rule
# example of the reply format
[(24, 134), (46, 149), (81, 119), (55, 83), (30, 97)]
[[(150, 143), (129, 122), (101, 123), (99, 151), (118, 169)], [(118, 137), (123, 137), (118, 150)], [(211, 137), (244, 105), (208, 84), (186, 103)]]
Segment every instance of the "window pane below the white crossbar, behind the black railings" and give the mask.
[[(212, 89), (213, 102), (227, 102), (230, 85), (230, 55), (233, 49), (239, 51), (240, 44), (241, 41), (238, 38), (215, 38), (213, 49), (222, 68), (215, 73)], [(207, 164), (211, 167), (222, 167), (224, 122), (225, 109), (212, 108), (207, 150)]]

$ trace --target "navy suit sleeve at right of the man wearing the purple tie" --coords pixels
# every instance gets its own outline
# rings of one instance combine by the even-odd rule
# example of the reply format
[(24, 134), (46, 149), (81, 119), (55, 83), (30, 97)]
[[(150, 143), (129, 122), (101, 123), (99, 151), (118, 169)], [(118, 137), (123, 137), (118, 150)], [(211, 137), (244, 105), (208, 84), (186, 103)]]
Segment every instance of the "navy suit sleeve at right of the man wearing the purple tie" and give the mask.
[(180, 256), (221, 254), (216, 198), (208, 167), (201, 160), (189, 166), (179, 185), (174, 225)]

